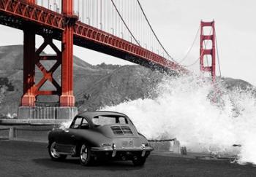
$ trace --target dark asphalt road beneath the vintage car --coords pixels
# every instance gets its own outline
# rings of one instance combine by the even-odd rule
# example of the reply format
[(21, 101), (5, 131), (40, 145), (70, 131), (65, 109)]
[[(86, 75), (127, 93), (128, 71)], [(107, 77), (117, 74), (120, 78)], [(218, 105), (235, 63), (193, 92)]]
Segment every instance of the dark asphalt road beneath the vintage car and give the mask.
[(78, 159), (53, 162), (45, 143), (0, 141), (0, 176), (256, 176), (252, 165), (151, 154), (143, 168), (132, 162), (83, 167)]

